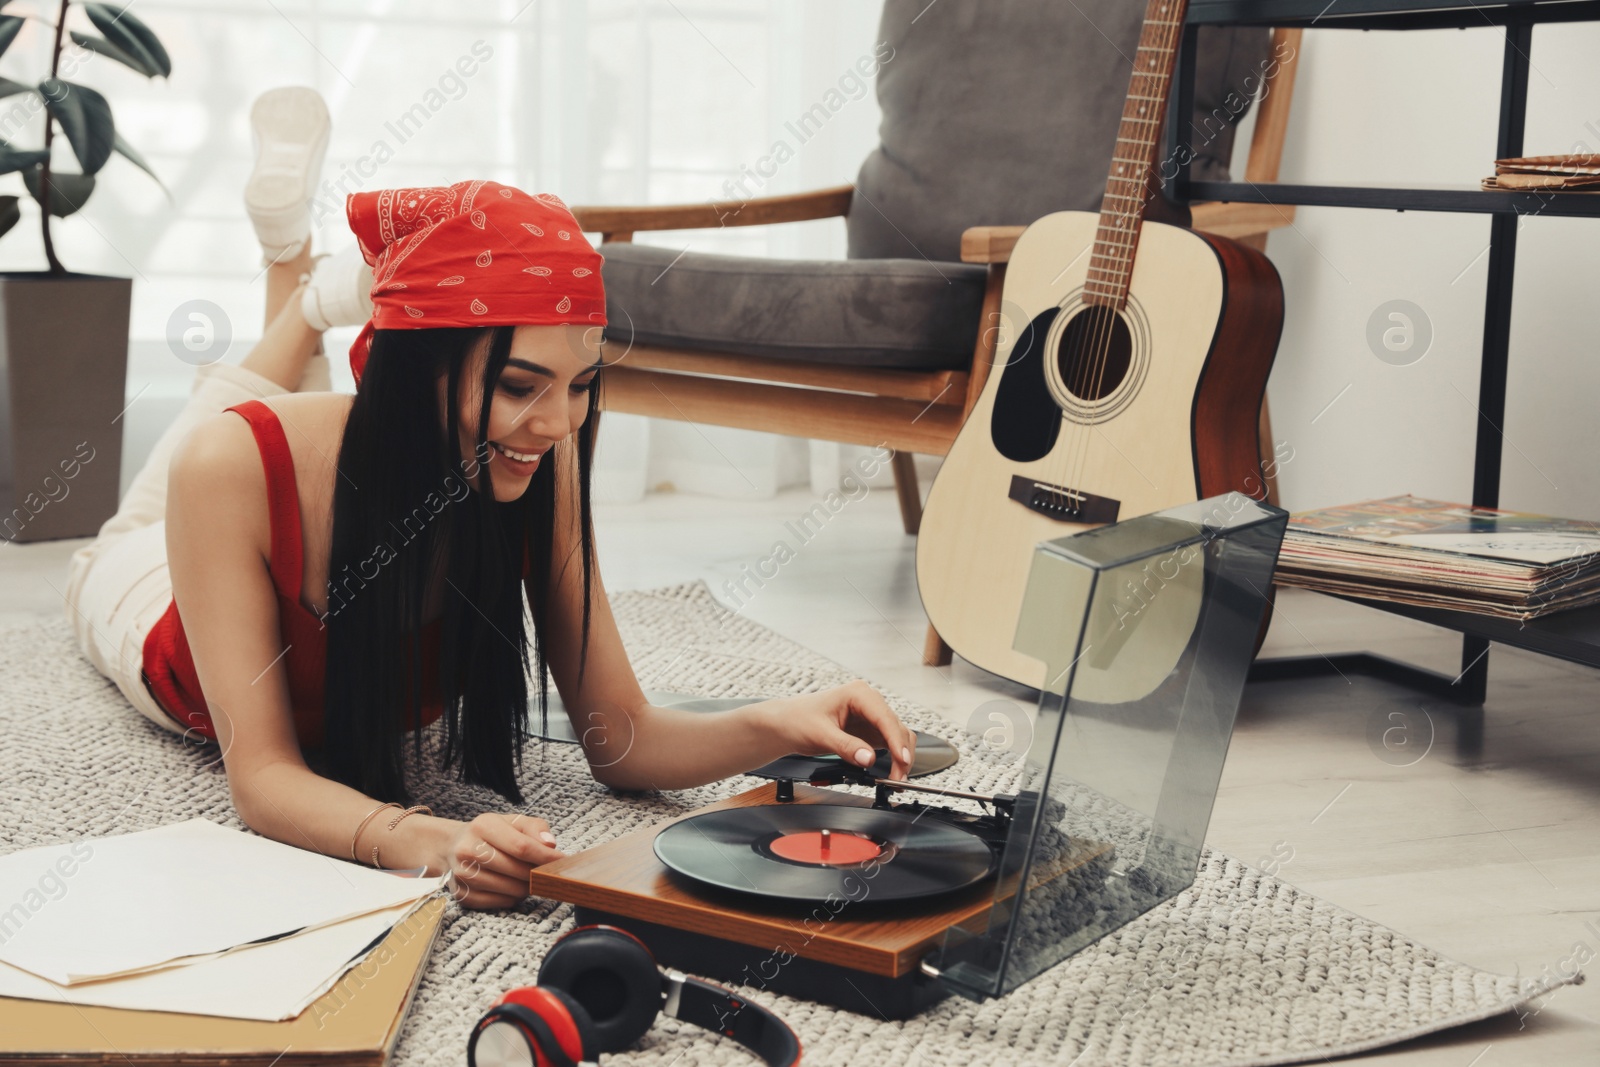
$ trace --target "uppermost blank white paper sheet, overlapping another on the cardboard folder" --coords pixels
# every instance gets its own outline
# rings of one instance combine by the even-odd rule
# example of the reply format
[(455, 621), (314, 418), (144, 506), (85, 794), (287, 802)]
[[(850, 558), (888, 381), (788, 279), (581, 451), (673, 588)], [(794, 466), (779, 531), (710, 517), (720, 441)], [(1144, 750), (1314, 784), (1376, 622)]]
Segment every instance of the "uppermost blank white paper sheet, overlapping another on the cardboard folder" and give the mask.
[(72, 985), (325, 926), (445, 885), (189, 819), (0, 856), (0, 963)]

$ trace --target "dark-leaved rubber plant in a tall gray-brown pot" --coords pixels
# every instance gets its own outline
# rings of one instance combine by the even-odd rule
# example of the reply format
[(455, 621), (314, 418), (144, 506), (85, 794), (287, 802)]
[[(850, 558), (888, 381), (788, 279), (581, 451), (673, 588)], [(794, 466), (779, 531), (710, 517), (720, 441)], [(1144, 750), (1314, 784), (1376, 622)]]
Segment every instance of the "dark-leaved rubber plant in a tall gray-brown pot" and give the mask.
[[(67, 270), (56, 258), (51, 221), (88, 203), (112, 155), (128, 158), (150, 178), (155, 171), (117, 133), (106, 98), (72, 77), (91, 58), (112, 59), (147, 78), (166, 77), (173, 66), (150, 27), (126, 8), (61, 0), (50, 22), (6, 14), (5, 6), (6, 0), (0, 0), (0, 56), (29, 21), (50, 29), (53, 46), (50, 77), (37, 85), (0, 77), (0, 133), (45, 114), (43, 147), (19, 147), (0, 138), (0, 174), (21, 174), (24, 189), (38, 202), (50, 264), (48, 270), (0, 274), (0, 456), (6, 467), (0, 485), (10, 490), (0, 496), (0, 536), (83, 537), (96, 534), (117, 510), (133, 282)], [(74, 8), (82, 8), (83, 30), (67, 29)], [(77, 48), (69, 48), (69, 40)], [(59, 141), (75, 157), (75, 171), (61, 165), (67, 152)], [(0, 197), (0, 234), (21, 219), (18, 200)]]

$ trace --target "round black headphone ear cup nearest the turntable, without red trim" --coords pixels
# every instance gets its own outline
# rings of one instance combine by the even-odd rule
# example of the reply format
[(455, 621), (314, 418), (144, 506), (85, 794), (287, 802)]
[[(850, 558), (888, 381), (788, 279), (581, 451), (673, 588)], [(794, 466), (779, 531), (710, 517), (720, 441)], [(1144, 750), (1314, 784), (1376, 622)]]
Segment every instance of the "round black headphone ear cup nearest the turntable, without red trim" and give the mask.
[(619, 1053), (645, 1037), (661, 1011), (661, 971), (638, 939), (584, 926), (544, 955), (539, 985), (568, 993), (594, 1025), (595, 1053)]

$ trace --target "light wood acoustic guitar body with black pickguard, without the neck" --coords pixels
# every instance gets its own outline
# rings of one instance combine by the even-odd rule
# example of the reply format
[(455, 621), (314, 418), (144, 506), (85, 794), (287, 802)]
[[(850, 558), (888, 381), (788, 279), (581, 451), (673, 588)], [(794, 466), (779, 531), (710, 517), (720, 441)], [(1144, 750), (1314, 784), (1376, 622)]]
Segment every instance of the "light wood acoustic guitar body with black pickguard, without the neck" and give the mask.
[[(1045, 665), (1011, 641), (1035, 544), (1262, 493), (1258, 418), (1283, 326), (1272, 262), (1229, 238), (1144, 222), (1126, 304), (1112, 312), (1085, 302), (1098, 226), (1098, 214), (1059, 211), (1018, 240), (994, 368), (928, 491), (917, 541), (917, 585), (944, 641), (1034, 688)], [(1155, 597), (1118, 653), (1147, 661), (1144, 677), (1125, 662), (1122, 689), (1090, 699), (1154, 689), (1198, 605), (1198, 573)], [(1088, 669), (1094, 656), (1085, 659)]]

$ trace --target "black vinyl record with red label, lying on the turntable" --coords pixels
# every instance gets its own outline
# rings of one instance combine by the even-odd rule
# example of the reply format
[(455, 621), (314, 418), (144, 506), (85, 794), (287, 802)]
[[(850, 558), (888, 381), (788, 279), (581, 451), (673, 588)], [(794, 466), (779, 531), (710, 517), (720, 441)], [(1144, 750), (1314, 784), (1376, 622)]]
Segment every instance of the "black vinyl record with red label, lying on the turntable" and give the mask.
[(995, 859), (936, 819), (854, 805), (760, 805), (691, 816), (656, 835), (670, 870), (776, 901), (915, 901), (982, 881)]

